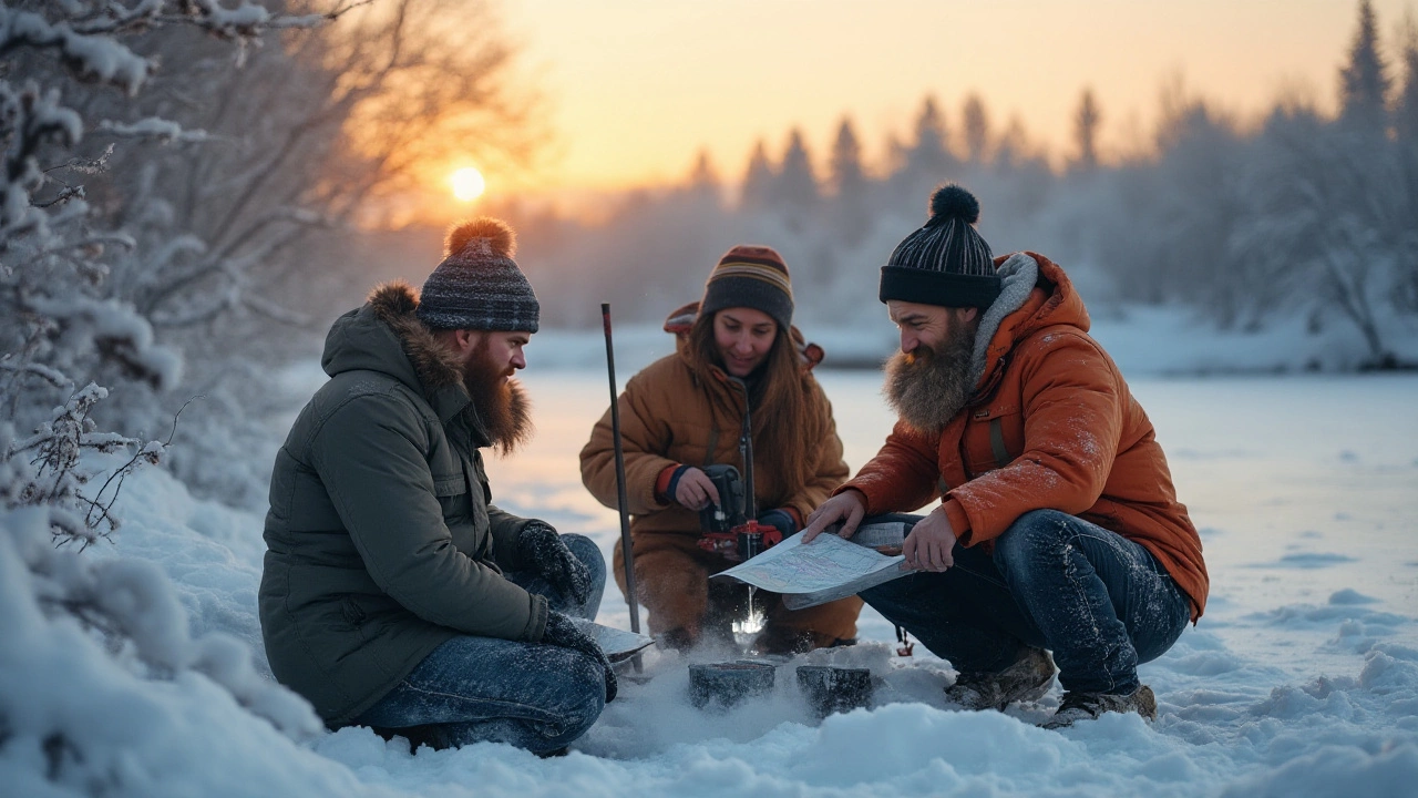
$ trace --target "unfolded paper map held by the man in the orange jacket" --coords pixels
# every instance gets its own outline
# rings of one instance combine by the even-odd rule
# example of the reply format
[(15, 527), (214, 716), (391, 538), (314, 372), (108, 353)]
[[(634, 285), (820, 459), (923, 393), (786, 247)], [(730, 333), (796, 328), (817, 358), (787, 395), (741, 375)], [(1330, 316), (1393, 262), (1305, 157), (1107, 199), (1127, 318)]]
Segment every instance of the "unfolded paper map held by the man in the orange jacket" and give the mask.
[(912, 525), (915, 518), (895, 515), (881, 523), (862, 523), (851, 540), (832, 534), (832, 527), (807, 545), (803, 545), (803, 535), (793, 535), (716, 576), (784, 594), (784, 606), (803, 609), (909, 574), (900, 569), (905, 558), (888, 557), (875, 547), (899, 547)]

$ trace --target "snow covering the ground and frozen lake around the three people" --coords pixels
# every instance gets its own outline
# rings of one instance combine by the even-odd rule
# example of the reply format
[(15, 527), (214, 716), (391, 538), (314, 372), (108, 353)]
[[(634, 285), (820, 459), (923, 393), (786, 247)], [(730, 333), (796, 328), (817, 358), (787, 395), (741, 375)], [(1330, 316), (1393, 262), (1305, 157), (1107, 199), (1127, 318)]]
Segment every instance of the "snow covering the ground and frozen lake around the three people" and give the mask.
[[(668, 351), (668, 339), (618, 334), (620, 381)], [(1126, 342), (1119, 349), (1120, 362), (1133, 356)], [(1141, 667), (1159, 697), (1154, 724), (1105, 716), (1041, 730), (1034, 724), (1056, 706), (1056, 689), (1007, 713), (951, 711), (942, 699), (949, 663), (920, 646), (916, 657), (896, 657), (892, 628), (866, 612), (862, 645), (780, 667), (771, 694), (725, 714), (692, 709), (683, 663), (654, 652), (654, 679), (623, 680), (621, 697), (563, 758), (495, 744), (414, 754), (364, 728), (306, 737), (308, 710), (265, 682), (261, 517), (196, 500), (145, 470), (123, 488), (116, 544), (79, 559), (112, 567), (133, 588), (113, 601), (155, 608), (145, 645), (186, 667), (145, 676), (74, 625), (45, 619), (20, 565), (43, 532), (4, 517), (0, 784), (16, 795), (101, 784), (113, 795), (214, 797), (1414, 794), (1418, 376), (1156, 376), (1185, 371), (1187, 351), (1174, 341), (1150, 369), (1123, 365), (1202, 531), (1212, 578), (1200, 625)], [(1273, 355), (1252, 352), (1249, 365)], [(608, 400), (603, 358), (598, 334), (533, 339), (525, 383), (539, 434), (527, 450), (492, 459), (489, 474), (502, 507), (588, 534), (608, 554), (617, 515), (581, 488), (576, 463)], [(313, 372), (292, 379), (313, 382)], [(881, 378), (821, 379), (856, 469), (891, 427)], [(274, 450), (250, 456), (269, 461)], [(614, 584), (600, 621), (628, 628)], [(815, 720), (793, 679), (804, 662), (871, 667), (881, 677), (873, 707)], [(245, 676), (213, 676), (217, 663)], [(261, 700), (279, 706), (261, 714), (281, 718), (295, 740), (242, 706)], [(58, 784), (44, 781), (43, 731), (55, 724), (84, 753)]]

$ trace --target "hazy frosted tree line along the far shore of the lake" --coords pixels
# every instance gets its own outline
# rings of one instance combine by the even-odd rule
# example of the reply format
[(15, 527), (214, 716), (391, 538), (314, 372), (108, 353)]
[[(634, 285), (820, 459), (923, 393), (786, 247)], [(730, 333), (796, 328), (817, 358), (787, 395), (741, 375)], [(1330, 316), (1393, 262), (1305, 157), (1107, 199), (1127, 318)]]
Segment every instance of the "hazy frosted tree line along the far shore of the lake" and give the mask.
[[(1242, 124), (1180, 80), (1163, 91), (1151, 152), (1099, 152), (1107, 109), (1081, 91), (1065, 163), (1051, 166), (1017, 119), (971, 94), (959, 111), (927, 97), (906, 141), (868, 163), (844, 118), (825, 153), (800, 129), (760, 141), (726, 186), (706, 153), (675, 187), (632, 193), (601, 224), (499, 209), (546, 278), (549, 318), (593, 325), (586, 297), (618, 297), (644, 321), (702, 291), (737, 241), (780, 248), (804, 322), (876, 319), (876, 268), (954, 180), (977, 193), (981, 233), (1007, 253), (1062, 263), (1092, 304), (1171, 302), (1229, 329), (1303, 317), (1363, 338), (1366, 366), (1394, 366), (1418, 321), (1418, 33), (1385, 53), (1368, 0), (1336, 75), (1339, 112), (1278, 101)], [(552, 277), (554, 275), (554, 278)], [(533, 275), (536, 280), (536, 275)]]

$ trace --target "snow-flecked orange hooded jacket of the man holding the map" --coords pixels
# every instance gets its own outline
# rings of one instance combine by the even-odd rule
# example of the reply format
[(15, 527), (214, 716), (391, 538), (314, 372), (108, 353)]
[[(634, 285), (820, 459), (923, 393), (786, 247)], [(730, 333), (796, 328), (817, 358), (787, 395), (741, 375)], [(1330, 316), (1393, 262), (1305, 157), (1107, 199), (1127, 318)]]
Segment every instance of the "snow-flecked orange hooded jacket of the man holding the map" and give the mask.
[[(939, 436), (898, 423), (838, 493), (859, 490), (872, 514), (915, 510), (943, 494), (961, 545), (988, 544), (1031, 510), (1078, 515), (1157, 557), (1191, 598), (1195, 621), (1210, 586), (1201, 538), (1177, 503), (1153, 425), (1088, 335), (1088, 311), (1064, 270), (1022, 254), (1037, 264), (1034, 288), (983, 352), (977, 344), (974, 398)], [(981, 334), (988, 319), (987, 311)]]

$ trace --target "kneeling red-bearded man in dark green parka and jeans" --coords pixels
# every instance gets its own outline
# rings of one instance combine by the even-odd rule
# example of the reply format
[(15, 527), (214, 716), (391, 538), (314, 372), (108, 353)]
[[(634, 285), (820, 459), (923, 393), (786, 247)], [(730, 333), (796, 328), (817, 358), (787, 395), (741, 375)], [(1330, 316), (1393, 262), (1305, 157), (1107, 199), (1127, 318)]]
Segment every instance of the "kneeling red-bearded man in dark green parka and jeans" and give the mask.
[(491, 504), (481, 449), (530, 432), (512, 375), (539, 305), (513, 250), (506, 224), (465, 223), (421, 295), (381, 285), (342, 315), (277, 454), (261, 630), (330, 727), (546, 754), (615, 696), (571, 621), (600, 606), (600, 551)]

